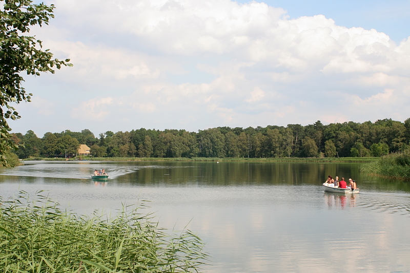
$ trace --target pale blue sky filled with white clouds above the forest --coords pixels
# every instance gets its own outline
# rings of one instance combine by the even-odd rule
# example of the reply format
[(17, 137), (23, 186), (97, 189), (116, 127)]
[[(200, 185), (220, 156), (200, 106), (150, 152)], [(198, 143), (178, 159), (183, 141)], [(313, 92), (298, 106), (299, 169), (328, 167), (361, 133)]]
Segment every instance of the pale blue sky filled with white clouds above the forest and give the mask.
[(410, 117), (410, 0), (45, 3), (30, 34), (73, 67), (24, 75), (12, 132)]

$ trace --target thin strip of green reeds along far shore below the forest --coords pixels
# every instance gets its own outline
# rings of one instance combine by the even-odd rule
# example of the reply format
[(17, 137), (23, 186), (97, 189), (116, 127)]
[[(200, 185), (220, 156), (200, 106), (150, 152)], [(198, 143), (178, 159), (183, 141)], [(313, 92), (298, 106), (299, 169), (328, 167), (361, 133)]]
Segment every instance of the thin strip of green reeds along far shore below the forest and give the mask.
[[(200, 162), (373, 162), (377, 157), (325, 157), (325, 158), (302, 158), (302, 157), (281, 157), (281, 158), (210, 158), (210, 157), (86, 157), (89, 161), (200, 161)], [(64, 158), (28, 158), (25, 160), (65, 160)], [(70, 159), (74, 160), (74, 159)]]

